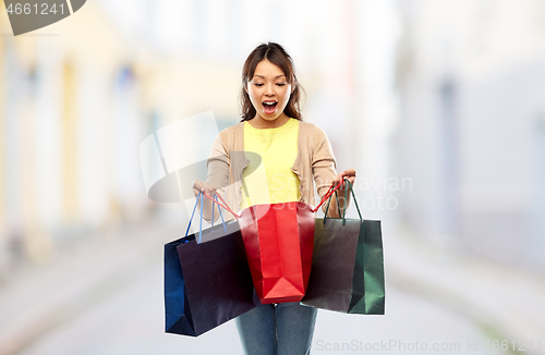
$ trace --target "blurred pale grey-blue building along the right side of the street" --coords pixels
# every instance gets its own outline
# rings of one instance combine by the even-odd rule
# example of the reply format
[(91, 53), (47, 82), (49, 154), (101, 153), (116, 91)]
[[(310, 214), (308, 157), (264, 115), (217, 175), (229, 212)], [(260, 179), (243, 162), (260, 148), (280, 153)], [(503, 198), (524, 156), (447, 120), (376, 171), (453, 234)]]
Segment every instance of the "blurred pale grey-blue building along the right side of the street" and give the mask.
[(429, 241), (545, 268), (545, 1), (399, 1), (397, 166)]

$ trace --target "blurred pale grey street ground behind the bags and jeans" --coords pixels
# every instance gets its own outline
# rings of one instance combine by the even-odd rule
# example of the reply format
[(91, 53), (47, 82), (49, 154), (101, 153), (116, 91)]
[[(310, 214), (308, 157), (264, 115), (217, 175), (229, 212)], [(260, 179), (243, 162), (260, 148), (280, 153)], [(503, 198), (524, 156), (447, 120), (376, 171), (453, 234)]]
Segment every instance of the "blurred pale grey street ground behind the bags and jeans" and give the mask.
[[(97, 238), (59, 260), (63, 262), (56, 266), (60, 269), (43, 271), (48, 284), (28, 279), (26, 285), (25, 280), (16, 281), (19, 286), (8, 285), (0, 296), (2, 315), (9, 317), (0, 323), (0, 354), (242, 354), (232, 321), (198, 338), (164, 332), (162, 244), (175, 237), (174, 230), (155, 224), (120, 230), (120, 235)], [(526, 302), (514, 302), (519, 308), (509, 310), (510, 298), (489, 297), (496, 292), (495, 269), (471, 267), (474, 278), (483, 279), (481, 272), (487, 272), (488, 282), (468, 296), (472, 281), (470, 277), (457, 279), (467, 268), (460, 260), (432, 253), (433, 265), (434, 259), (424, 257), (425, 249), (408, 246), (401, 236), (388, 238), (385, 250), (387, 314), (320, 310), (313, 354), (506, 354), (514, 352), (494, 352), (487, 348), (494, 344), (489, 340), (514, 340), (520, 347), (524, 341), (520, 336), (538, 336), (537, 329), (544, 329), (538, 328), (545, 317), (537, 299), (543, 299), (543, 284), (521, 280), (526, 282), (525, 290), (532, 290), (535, 304), (526, 297)], [(434, 272), (439, 273), (438, 280)], [(511, 271), (506, 280), (513, 277), (520, 279)], [(21, 293), (23, 286), (32, 290), (32, 285), (43, 295)], [(22, 296), (15, 297), (15, 291)], [(495, 314), (498, 306), (508, 311)], [(514, 327), (521, 319), (525, 320), (521, 327), (526, 328)], [(535, 348), (537, 341), (534, 338), (534, 350), (526, 348), (524, 354), (544, 354)]]

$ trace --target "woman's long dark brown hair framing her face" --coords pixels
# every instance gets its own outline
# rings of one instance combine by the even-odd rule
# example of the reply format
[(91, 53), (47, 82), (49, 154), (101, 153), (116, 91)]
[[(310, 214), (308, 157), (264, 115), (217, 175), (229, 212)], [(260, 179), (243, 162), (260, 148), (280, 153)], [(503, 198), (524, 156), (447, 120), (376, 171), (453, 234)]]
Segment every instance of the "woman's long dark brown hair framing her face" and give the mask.
[(242, 68), (242, 88), (240, 91), (240, 105), (242, 110), (242, 121), (252, 120), (255, 117), (255, 108), (250, 101), (250, 95), (244, 89), (247, 83), (252, 79), (255, 73), (255, 68), (262, 60), (268, 60), (272, 64), (280, 68), (286, 75), (288, 83), (294, 87), (290, 95), (290, 99), (283, 109), (283, 113), (289, 118), (303, 121), (301, 108), (299, 106), (300, 93), (304, 93), (303, 87), (299, 84), (295, 77), (295, 69), (290, 54), (286, 52), (282, 46), (275, 42), (261, 44), (247, 56), (244, 66)]

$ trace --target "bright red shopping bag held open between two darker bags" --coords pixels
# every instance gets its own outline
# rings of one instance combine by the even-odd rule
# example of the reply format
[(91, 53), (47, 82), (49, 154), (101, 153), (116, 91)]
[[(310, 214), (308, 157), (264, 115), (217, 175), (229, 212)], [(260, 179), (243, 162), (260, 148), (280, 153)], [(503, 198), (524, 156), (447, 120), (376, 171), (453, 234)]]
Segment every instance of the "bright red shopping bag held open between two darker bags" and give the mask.
[(261, 303), (301, 301), (312, 266), (312, 207), (299, 201), (253, 205), (240, 212), (239, 222)]

